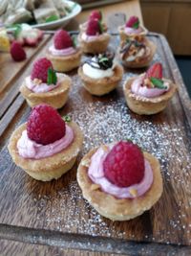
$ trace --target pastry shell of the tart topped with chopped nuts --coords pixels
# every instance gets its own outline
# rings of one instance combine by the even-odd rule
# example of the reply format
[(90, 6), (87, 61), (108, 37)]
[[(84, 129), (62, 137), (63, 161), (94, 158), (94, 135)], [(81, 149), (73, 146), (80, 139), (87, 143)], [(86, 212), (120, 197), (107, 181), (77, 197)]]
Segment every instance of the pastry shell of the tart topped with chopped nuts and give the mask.
[(146, 39), (145, 44), (150, 49), (150, 52), (147, 55), (145, 55), (144, 57), (138, 57), (133, 61), (126, 61), (125, 59), (122, 59), (122, 64), (128, 68), (140, 68), (148, 66), (153, 60), (153, 57), (157, 50), (157, 46), (154, 42), (148, 39)]

